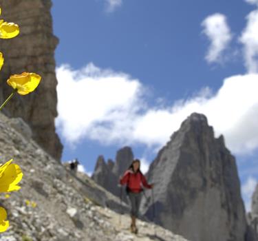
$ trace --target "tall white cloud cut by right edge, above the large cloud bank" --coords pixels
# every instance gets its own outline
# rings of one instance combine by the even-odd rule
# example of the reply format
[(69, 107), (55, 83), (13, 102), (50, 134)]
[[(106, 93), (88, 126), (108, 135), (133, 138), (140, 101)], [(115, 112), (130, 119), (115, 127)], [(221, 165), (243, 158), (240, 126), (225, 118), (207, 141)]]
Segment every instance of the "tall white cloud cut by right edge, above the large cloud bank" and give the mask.
[[(258, 2), (258, 1), (253, 1)], [(258, 10), (247, 16), (247, 25), (242, 32), (240, 42), (244, 45), (246, 69), (250, 73), (258, 72)]]

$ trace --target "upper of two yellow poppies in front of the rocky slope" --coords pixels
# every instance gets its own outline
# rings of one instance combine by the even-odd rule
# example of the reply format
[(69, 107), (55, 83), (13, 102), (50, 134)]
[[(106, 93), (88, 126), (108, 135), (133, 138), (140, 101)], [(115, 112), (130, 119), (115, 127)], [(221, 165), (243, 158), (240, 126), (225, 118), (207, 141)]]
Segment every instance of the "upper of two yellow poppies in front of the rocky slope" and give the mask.
[(21, 187), (17, 184), (21, 181), (23, 173), (19, 165), (12, 164), (12, 159), (0, 166), (0, 192), (17, 191)]

